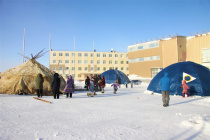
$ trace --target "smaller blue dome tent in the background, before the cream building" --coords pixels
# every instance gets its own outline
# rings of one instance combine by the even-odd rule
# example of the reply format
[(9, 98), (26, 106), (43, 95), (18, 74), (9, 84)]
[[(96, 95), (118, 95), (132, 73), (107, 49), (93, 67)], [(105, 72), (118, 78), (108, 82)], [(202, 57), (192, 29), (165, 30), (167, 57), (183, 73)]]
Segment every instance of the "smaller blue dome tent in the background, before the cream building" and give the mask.
[(129, 78), (119, 70), (107, 70), (101, 74), (101, 77), (105, 77), (105, 81), (107, 84), (114, 83), (114, 81), (118, 80), (119, 84), (130, 83)]

